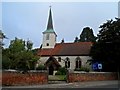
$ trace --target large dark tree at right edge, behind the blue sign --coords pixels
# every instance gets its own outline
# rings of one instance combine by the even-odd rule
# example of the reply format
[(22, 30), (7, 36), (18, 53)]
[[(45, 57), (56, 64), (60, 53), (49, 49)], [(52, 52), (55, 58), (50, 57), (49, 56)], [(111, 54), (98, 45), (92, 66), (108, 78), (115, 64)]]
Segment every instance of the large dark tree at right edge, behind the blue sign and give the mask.
[(103, 63), (103, 71), (117, 71), (120, 63), (120, 19), (108, 20), (100, 28), (90, 55), (93, 62)]

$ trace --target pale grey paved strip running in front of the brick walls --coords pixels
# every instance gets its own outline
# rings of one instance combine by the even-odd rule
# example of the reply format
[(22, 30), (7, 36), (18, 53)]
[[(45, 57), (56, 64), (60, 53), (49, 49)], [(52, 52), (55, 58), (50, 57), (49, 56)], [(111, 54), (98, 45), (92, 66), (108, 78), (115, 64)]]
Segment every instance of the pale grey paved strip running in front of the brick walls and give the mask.
[[(113, 87), (109, 87), (113, 86)], [(33, 86), (9, 86), (5, 88), (118, 88), (118, 81), (92, 81), (92, 82), (76, 82), (59, 84), (46, 84), (46, 85), (33, 85)], [(4, 90), (4, 89), (3, 89)], [(7, 89), (8, 90), (8, 89)], [(62, 90), (62, 89), (61, 89)]]

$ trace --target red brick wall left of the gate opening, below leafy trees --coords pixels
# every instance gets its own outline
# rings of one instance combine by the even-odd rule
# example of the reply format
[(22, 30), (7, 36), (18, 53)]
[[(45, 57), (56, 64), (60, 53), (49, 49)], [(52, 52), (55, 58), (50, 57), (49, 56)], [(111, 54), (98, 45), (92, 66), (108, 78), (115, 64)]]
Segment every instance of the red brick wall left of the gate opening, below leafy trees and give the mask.
[(20, 73), (13, 71), (3, 71), (2, 85), (38, 85), (48, 83), (47, 71), (32, 71), (28, 73)]

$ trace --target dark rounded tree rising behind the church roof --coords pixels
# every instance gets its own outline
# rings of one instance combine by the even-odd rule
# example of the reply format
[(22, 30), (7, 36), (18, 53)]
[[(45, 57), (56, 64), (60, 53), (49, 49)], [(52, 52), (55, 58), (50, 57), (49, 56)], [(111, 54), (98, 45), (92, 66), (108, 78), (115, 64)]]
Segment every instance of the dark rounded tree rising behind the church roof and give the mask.
[(93, 34), (93, 30), (89, 27), (85, 27), (80, 34), (80, 42), (95, 42), (96, 37)]

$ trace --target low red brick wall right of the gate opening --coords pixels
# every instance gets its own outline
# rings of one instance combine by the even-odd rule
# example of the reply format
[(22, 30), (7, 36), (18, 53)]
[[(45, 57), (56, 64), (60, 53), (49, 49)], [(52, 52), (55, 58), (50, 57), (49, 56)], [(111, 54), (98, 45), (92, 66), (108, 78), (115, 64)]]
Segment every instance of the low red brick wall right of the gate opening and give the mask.
[(117, 80), (117, 73), (111, 72), (69, 72), (67, 82)]

